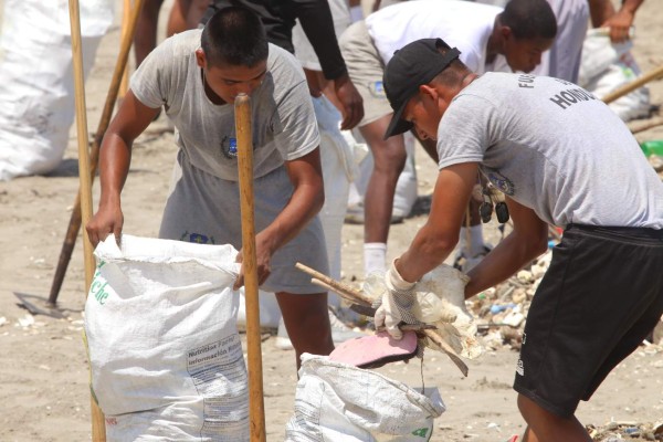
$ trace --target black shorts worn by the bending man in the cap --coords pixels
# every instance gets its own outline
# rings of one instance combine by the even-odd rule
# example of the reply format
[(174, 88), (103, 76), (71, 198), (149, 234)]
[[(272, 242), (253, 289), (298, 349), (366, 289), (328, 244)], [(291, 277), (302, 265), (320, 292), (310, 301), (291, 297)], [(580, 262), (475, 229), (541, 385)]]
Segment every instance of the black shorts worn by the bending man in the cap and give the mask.
[(575, 413), (663, 314), (663, 231), (569, 225), (527, 315), (514, 389)]

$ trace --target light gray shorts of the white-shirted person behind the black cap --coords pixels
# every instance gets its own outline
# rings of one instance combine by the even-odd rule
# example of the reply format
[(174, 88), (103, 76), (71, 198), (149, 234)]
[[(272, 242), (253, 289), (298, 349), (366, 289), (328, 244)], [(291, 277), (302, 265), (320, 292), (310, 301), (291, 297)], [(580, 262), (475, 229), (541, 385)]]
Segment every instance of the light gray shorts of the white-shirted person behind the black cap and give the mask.
[(393, 109), (382, 87), (385, 63), (368, 34), (364, 20), (346, 29), (340, 35), (338, 45), (346, 61), (350, 80), (364, 98), (364, 119), (359, 122), (359, 127), (392, 114)]

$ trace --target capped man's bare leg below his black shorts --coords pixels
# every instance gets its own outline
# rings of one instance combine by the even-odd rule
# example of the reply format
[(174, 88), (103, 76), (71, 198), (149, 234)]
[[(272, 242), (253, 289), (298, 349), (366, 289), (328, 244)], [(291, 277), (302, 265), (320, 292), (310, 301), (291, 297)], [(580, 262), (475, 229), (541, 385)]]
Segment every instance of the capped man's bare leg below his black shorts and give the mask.
[(523, 394), (518, 394), (518, 409), (527, 422), (524, 442), (592, 442), (576, 417), (560, 418)]

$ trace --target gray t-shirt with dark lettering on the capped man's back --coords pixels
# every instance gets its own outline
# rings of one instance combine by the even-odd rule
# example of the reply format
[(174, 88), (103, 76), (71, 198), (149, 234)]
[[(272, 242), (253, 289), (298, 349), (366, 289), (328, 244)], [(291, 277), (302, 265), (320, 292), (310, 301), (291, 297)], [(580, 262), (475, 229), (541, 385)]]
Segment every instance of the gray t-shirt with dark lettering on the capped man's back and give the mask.
[(481, 162), (504, 193), (554, 225), (663, 229), (663, 183), (623, 122), (562, 80), (486, 73), (438, 128), (440, 168)]

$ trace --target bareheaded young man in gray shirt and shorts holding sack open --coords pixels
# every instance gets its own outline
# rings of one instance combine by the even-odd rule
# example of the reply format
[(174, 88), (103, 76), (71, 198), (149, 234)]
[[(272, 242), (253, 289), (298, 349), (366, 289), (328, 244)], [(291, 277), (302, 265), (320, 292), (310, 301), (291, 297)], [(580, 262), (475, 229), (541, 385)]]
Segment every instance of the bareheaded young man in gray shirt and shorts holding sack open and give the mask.
[[(240, 93), (252, 99), (259, 283), (276, 293), (298, 367), (302, 352), (334, 349), (327, 294), (295, 269), (296, 262), (328, 269), (317, 218), (319, 136), (302, 67), (267, 43), (250, 10), (224, 9), (203, 30), (166, 40), (140, 64), (102, 144), (102, 196), (87, 232), (93, 244), (110, 233), (119, 238), (131, 144), (164, 106), (179, 151), (159, 236), (241, 249), (233, 107)], [(235, 288), (242, 283), (243, 267)]]

